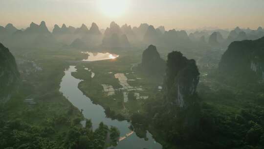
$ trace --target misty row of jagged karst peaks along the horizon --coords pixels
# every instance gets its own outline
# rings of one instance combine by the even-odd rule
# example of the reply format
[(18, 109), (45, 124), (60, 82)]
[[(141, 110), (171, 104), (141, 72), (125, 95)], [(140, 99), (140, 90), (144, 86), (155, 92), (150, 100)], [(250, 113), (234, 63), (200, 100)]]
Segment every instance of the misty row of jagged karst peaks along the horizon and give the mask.
[[(103, 31), (103, 32), (102, 32)], [(256, 30), (240, 27), (228, 31), (224, 29), (201, 30), (187, 33), (185, 30), (166, 30), (164, 26), (140, 24), (138, 27), (111, 22), (106, 29), (100, 29), (92, 23), (90, 28), (83, 24), (80, 27), (54, 25), (52, 32), (42, 21), (40, 25), (31, 23), (25, 30), (19, 30), (12, 24), (0, 26), (0, 42), (8, 47), (65, 47), (79, 43), (82, 48), (129, 48), (134, 45), (151, 45), (162, 47), (195, 47), (207, 45), (213, 48), (227, 47), (234, 41), (256, 40), (264, 36), (264, 29)], [(142, 47), (141, 46), (141, 47)]]

